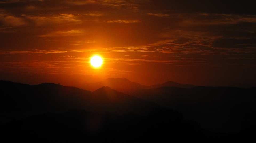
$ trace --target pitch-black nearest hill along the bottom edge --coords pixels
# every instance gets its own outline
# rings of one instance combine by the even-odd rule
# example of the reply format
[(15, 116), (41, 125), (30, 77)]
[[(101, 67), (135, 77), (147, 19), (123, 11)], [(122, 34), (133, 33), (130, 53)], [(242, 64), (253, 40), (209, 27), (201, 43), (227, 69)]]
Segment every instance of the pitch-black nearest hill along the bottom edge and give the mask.
[(44, 113), (13, 120), (0, 129), (2, 140), (9, 142), (230, 142), (252, 137), (200, 129), (183, 121), (181, 113), (166, 108), (155, 108), (146, 116), (85, 110)]

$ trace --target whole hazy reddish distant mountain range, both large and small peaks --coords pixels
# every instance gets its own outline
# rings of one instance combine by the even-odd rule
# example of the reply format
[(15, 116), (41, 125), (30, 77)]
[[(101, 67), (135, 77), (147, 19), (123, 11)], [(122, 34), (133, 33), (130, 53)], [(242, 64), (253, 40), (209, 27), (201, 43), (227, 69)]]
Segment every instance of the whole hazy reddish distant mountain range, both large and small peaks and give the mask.
[(137, 90), (137, 89), (152, 89), (152, 88), (163, 87), (163, 86), (168, 86), (168, 87), (173, 86), (173, 87), (182, 87), (182, 88), (196, 87), (194, 85), (189, 85), (189, 84), (183, 85), (173, 81), (167, 81), (159, 85), (146, 86), (136, 82), (131, 82), (126, 78), (108, 78), (104, 81), (83, 84), (83, 85), (80, 85), (79, 87), (85, 90), (94, 91), (98, 88), (101, 88), (102, 86), (109, 86), (112, 89), (121, 91), (121, 92), (127, 92), (129, 90)]

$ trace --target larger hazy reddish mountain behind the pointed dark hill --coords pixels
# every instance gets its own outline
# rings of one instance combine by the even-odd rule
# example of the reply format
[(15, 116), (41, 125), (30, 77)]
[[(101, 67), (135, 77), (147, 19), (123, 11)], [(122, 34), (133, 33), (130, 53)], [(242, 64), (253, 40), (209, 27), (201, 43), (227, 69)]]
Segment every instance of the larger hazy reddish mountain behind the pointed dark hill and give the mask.
[(109, 86), (112, 89), (122, 91), (123, 89), (145, 89), (146, 85), (141, 85), (136, 82), (131, 82), (126, 78), (108, 78), (101, 82), (95, 82), (95, 83), (89, 83), (89, 84), (83, 84), (80, 86), (80, 88), (94, 91), (96, 89), (101, 88), (102, 86)]

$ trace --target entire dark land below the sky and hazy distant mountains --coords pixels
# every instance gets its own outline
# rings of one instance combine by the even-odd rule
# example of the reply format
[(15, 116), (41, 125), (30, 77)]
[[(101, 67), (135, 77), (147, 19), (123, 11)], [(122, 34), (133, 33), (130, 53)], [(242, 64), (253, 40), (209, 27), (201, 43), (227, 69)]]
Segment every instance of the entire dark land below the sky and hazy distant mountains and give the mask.
[(105, 86), (91, 92), (54, 83), (0, 81), (2, 137), (29, 142), (253, 139), (255, 87), (186, 86), (190, 88), (124, 94)]

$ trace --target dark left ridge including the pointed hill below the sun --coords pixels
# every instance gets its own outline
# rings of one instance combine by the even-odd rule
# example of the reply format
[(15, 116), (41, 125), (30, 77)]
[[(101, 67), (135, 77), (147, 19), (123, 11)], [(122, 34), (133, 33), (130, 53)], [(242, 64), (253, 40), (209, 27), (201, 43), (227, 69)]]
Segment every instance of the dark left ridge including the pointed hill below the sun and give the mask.
[(54, 83), (26, 85), (0, 81), (1, 122), (44, 112), (86, 109), (92, 112), (146, 114), (157, 104), (102, 87), (94, 92)]

